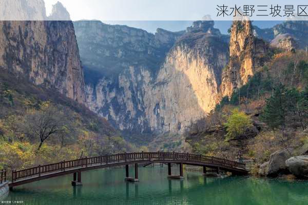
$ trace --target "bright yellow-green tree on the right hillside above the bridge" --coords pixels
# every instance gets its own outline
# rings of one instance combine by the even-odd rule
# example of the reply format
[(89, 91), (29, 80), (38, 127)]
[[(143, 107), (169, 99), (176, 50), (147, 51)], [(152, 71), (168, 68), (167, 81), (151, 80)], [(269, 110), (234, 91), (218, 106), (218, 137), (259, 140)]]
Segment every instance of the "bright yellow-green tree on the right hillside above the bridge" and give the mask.
[(249, 127), (252, 127), (252, 122), (244, 112), (234, 109), (224, 125), (227, 129), (226, 139), (234, 139), (244, 134)]

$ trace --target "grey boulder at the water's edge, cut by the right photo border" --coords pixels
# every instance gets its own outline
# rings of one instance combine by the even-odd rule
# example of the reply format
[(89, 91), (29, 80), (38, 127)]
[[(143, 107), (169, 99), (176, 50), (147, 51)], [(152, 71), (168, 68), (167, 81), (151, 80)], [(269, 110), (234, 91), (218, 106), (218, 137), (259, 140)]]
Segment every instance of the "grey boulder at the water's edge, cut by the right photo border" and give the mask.
[(291, 157), (285, 165), (297, 178), (308, 178), (308, 155)]

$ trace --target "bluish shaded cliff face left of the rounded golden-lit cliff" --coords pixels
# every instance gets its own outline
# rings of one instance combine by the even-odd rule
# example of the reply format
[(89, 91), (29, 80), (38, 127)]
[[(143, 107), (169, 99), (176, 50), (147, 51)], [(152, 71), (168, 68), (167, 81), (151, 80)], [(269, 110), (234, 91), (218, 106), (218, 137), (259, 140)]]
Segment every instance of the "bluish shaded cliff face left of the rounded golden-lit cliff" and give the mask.
[(158, 29), (153, 35), (95, 21), (75, 22), (74, 26), (87, 68), (89, 108), (123, 131), (150, 133), (145, 99), (150, 97), (166, 53), (182, 32)]

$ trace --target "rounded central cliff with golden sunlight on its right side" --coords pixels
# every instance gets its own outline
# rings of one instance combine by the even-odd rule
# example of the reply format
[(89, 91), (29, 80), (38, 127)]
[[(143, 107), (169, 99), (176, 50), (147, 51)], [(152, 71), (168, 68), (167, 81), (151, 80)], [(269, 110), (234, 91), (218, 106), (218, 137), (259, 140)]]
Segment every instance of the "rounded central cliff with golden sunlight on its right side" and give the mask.
[(220, 100), (221, 71), (228, 58), (228, 45), (219, 35), (182, 36), (145, 99), (150, 126), (162, 132), (183, 132), (213, 110)]

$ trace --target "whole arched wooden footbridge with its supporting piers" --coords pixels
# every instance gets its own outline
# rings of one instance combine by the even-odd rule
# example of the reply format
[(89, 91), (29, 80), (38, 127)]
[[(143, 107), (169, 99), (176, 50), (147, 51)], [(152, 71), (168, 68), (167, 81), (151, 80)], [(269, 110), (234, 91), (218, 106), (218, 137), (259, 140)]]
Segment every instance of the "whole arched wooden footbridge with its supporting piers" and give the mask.
[[(125, 166), (126, 180), (138, 181), (138, 165), (147, 165), (150, 163), (167, 163), (168, 175), (171, 178), (183, 178), (183, 164), (202, 166), (204, 173), (206, 173), (206, 168), (211, 168), (217, 171), (223, 170), (232, 172), (234, 174), (247, 174), (245, 164), (227, 159), (189, 153), (140, 152), (86, 157), (70, 161), (61, 161), (50, 165), (39, 165), (25, 170), (13, 170), (11, 172), (9, 187), (12, 189), (13, 187), (33, 181), (67, 174), (73, 174), (72, 185), (81, 185), (81, 173), (83, 171), (117, 166)], [(171, 175), (171, 163), (180, 165), (179, 176)], [(134, 164), (135, 167), (134, 178), (129, 177), (128, 165), (130, 164)]]

